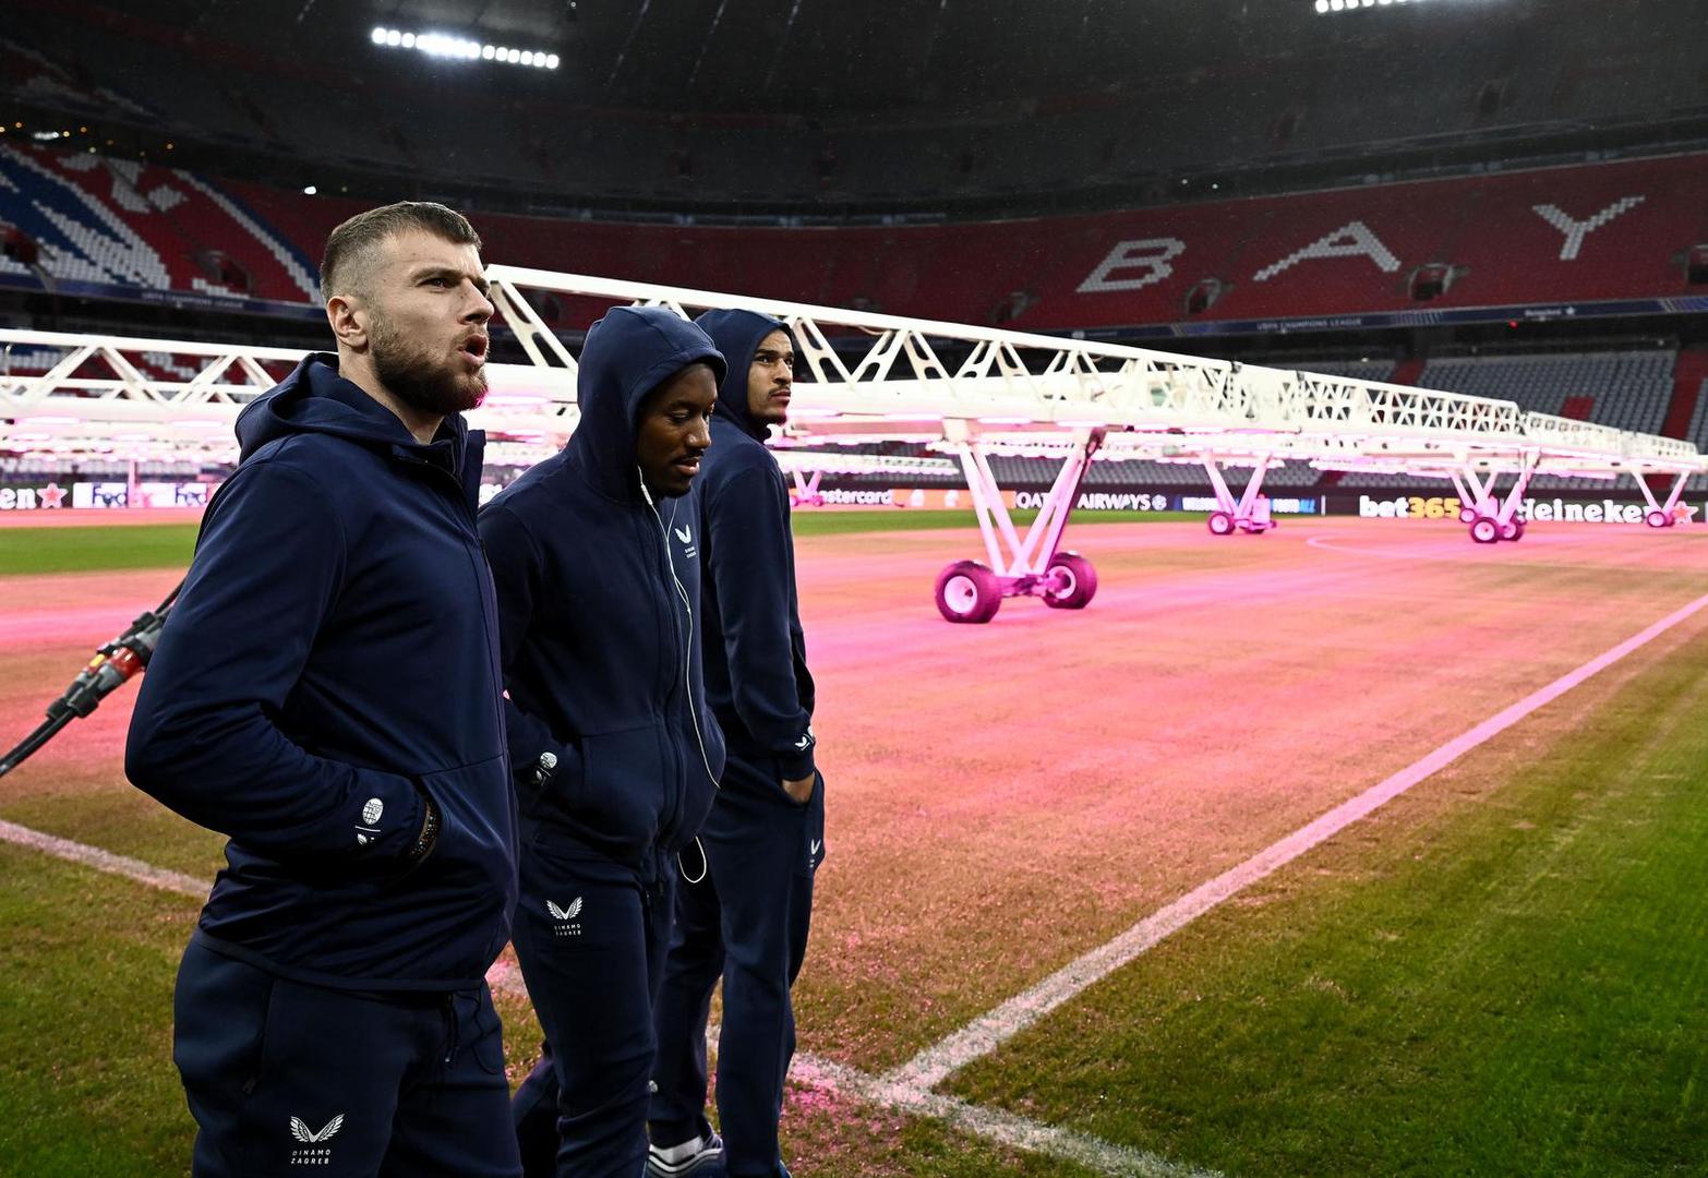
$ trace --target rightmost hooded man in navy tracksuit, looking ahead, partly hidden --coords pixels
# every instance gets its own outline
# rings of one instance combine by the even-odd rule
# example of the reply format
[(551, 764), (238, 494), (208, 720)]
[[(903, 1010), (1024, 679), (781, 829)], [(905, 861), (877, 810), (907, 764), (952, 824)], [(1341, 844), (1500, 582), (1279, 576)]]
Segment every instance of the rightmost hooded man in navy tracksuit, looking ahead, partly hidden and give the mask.
[[(658, 1094), (647, 1173), (787, 1175), (777, 1152), (794, 1053), (789, 988), (806, 956), (813, 872), (823, 860), (823, 777), (813, 767), (813, 676), (794, 587), (789, 493), (765, 449), (787, 420), (794, 345), (750, 311), (695, 319), (729, 362), (712, 449), (695, 488), (705, 562), (705, 690), (729, 741), (705, 821), (705, 879), (676, 900), (658, 1000)], [(724, 982), (717, 1113), (705, 1122), (705, 1019)]]

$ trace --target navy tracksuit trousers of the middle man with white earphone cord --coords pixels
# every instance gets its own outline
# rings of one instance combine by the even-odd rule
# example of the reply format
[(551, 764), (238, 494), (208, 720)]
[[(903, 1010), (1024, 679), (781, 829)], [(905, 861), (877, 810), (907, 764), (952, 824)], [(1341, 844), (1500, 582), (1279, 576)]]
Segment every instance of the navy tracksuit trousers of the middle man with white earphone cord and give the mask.
[(528, 1178), (639, 1178), (673, 859), (640, 872), (524, 838), (511, 939), (545, 1029), (512, 1106)]

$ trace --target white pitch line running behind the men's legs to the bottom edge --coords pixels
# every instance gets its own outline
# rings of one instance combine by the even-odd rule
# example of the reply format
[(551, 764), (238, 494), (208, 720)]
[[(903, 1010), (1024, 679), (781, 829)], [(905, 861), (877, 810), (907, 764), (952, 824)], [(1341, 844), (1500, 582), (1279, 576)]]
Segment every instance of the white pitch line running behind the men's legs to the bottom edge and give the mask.
[[(191, 900), (205, 900), (208, 893), (207, 883), (183, 872), (155, 867), (130, 855), (114, 855), (109, 850), (60, 838), (58, 835), (44, 835), (39, 830), (3, 819), (0, 819), (0, 842), (29, 847), (55, 859), (125, 876), (150, 888), (190, 896)], [(487, 970), (487, 985), (495, 994), (516, 999), (528, 997), (521, 970), (506, 958), (499, 958)], [(1054, 1125), (1044, 1125), (1025, 1117), (1015, 1117), (1013, 1113), (979, 1108), (951, 1096), (909, 1089), (813, 1055), (796, 1055), (789, 1067), (789, 1077), (810, 1088), (847, 1094), (917, 1117), (933, 1117), (955, 1128), (1003, 1146), (1015, 1146), (1049, 1154), (1050, 1158), (1074, 1161), (1110, 1178), (1221, 1178), (1221, 1175), (1211, 1169), (1182, 1166), (1141, 1149), (1115, 1146), (1098, 1137), (1056, 1128)]]

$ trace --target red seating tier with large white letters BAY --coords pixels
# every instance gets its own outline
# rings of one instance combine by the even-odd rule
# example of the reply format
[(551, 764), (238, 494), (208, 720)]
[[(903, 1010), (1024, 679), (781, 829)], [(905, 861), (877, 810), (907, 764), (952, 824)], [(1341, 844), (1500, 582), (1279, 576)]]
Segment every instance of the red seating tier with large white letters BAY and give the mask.
[[(547, 270), (1020, 329), (1252, 319), (1688, 292), (1708, 155), (1544, 169), (1098, 217), (907, 227), (675, 227), (478, 215), (485, 254)], [(50, 278), (314, 299), (326, 234), (364, 201), (0, 147), (0, 222)], [(760, 265), (753, 260), (762, 258)], [(977, 258), (979, 265), (967, 265)], [(1428, 300), (1419, 268), (1443, 271)], [(7, 268), (20, 278), (17, 263)], [(1220, 289), (1199, 314), (1189, 295)], [(241, 287), (236, 289), (236, 287)], [(565, 307), (586, 326), (596, 306)]]

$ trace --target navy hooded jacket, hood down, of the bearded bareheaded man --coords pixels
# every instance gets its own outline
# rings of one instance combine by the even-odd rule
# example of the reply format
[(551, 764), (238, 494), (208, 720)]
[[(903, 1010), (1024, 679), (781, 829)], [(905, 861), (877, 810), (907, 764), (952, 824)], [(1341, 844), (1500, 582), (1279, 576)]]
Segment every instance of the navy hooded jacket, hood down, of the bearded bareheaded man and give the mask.
[[(231, 840), (196, 939), (319, 985), (475, 988), (516, 905), (485, 439), (451, 417), (422, 446), (311, 355), (237, 440), (125, 749)], [(424, 792), (442, 828), (407, 862)]]

